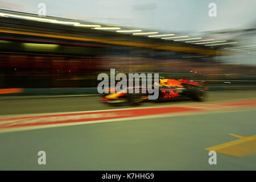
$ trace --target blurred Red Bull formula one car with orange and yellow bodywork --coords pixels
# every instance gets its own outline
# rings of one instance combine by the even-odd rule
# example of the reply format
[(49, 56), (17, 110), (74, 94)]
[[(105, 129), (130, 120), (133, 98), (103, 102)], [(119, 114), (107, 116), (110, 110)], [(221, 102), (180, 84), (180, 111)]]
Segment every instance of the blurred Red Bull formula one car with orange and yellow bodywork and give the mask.
[[(129, 103), (130, 105), (138, 105), (143, 101), (163, 101), (163, 100), (178, 100), (179, 98), (191, 98), (194, 101), (204, 101), (206, 88), (204, 84), (190, 80), (174, 80), (174, 79), (159, 79), (158, 83), (153, 86), (158, 86), (158, 98), (156, 100), (148, 100), (148, 93), (129, 93), (128, 89), (122, 92), (114, 92), (105, 94), (100, 98), (101, 102), (110, 104)], [(136, 88), (134, 88), (136, 89)], [(147, 89), (141, 86), (139, 90)]]

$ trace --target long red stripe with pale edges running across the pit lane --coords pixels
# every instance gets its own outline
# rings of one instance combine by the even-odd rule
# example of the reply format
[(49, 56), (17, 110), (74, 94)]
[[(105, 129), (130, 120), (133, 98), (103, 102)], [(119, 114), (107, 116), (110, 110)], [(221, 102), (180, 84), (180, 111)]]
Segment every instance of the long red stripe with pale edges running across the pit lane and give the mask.
[(205, 104), (193, 104), (188, 106), (162, 106), (138, 109), (122, 109), (108, 111), (89, 111), (84, 113), (67, 114), (38, 114), (24, 117), (0, 118), (0, 129), (10, 129), (14, 127), (42, 126), (61, 123), (102, 121), (107, 119), (133, 118), (147, 115), (174, 114), (199, 112), (209, 110), (230, 110), (255, 107), (256, 100), (225, 101)]

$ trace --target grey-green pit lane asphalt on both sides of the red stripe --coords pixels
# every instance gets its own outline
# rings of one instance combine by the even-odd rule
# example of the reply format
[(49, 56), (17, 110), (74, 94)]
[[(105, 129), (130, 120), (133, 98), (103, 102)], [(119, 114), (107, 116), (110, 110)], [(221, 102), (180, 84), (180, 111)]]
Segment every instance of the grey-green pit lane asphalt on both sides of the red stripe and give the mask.
[[(255, 97), (255, 92), (210, 93), (209, 101), (251, 97)], [(6, 100), (1, 105), (7, 108), (1, 108), (12, 109), (12, 114), (112, 108), (95, 102), (96, 98)], [(165, 104), (170, 102), (156, 105)], [(209, 165), (210, 156), (205, 150), (237, 139), (229, 133), (255, 135), (255, 111), (127, 119), (2, 133), (0, 170), (256, 170), (256, 155), (237, 158), (217, 153), (217, 164)], [(46, 165), (38, 164), (38, 151), (42, 150), (46, 151)]]

